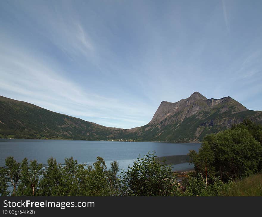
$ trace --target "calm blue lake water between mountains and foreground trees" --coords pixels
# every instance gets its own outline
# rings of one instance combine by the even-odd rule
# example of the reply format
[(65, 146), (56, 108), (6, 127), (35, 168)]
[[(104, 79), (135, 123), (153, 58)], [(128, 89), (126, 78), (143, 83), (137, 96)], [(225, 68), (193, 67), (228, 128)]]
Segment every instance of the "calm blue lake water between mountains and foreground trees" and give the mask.
[(173, 170), (189, 170), (193, 166), (186, 162), (185, 155), (199, 147), (199, 143), (0, 139), (0, 166), (4, 166), (5, 158), (10, 155), (19, 162), (26, 157), (43, 164), (50, 157), (63, 163), (65, 157), (71, 156), (79, 163), (92, 164), (100, 156), (108, 168), (110, 162), (118, 161), (119, 168), (126, 170), (139, 154), (143, 157), (148, 151), (155, 151), (158, 157), (169, 156)]

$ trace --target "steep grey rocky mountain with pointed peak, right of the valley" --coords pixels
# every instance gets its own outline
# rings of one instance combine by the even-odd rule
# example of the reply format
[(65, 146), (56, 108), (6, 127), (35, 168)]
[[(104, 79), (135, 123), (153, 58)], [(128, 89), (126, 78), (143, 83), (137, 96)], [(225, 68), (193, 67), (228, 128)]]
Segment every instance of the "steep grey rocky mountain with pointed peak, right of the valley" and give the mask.
[(245, 118), (262, 123), (262, 112), (248, 110), (231, 97), (207, 99), (194, 92), (176, 103), (161, 102), (152, 120), (133, 131), (144, 140), (201, 141), (206, 134), (217, 133)]

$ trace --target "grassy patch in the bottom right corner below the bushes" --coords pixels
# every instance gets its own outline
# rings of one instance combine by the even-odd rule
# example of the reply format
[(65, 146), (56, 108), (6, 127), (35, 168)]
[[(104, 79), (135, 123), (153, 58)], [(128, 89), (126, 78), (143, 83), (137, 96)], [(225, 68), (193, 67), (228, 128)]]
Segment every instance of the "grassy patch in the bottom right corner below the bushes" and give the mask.
[(232, 183), (225, 196), (262, 196), (262, 173)]

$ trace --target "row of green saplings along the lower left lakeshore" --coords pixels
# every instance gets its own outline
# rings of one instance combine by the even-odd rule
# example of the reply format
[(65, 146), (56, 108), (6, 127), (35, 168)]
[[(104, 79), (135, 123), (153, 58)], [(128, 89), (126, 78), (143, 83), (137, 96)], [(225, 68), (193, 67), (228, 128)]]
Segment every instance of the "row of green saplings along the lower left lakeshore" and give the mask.
[[(105, 161), (97, 157), (91, 165), (78, 164), (76, 160), (65, 158), (64, 165), (54, 158), (48, 159), (43, 167), (36, 160), (21, 163), (13, 157), (6, 159), (7, 168), (0, 168), (1, 196), (111, 196), (118, 195), (118, 163), (111, 163), (107, 170)], [(18, 185), (18, 187), (17, 187)], [(12, 188), (12, 192), (8, 191)]]

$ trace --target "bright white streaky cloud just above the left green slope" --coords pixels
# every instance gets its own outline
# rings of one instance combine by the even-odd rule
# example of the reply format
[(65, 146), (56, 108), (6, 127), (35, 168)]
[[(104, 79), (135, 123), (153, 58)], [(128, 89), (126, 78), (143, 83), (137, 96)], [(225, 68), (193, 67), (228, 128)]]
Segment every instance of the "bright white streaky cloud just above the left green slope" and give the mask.
[[(76, 84), (63, 75), (59, 65), (50, 65), (48, 57), (40, 59), (37, 55), (19, 48), (19, 45), (1, 44), (0, 54), (1, 91), (18, 100), (35, 103), (38, 106), (86, 120), (98, 118), (99, 124), (132, 128), (144, 125), (138, 117), (147, 115), (139, 106), (123, 103), (117, 98), (107, 98), (94, 93), (86, 93), (82, 85)], [(105, 117), (110, 114), (111, 117)], [(127, 114), (129, 117), (127, 117)], [(106, 121), (105, 121), (106, 120)], [(117, 122), (116, 122), (117, 120)]]

